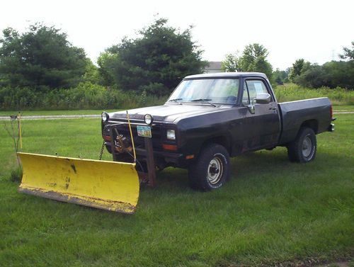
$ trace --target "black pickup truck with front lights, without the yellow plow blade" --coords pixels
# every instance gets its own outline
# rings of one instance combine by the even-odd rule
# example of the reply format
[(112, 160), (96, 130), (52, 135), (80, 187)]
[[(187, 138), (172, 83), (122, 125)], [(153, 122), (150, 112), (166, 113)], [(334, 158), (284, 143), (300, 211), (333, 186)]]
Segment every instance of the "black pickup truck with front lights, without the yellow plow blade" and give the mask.
[[(329, 98), (278, 103), (267, 76), (256, 72), (186, 76), (164, 105), (128, 112), (137, 160), (146, 160), (142, 136), (151, 135), (156, 167), (188, 168), (190, 185), (202, 190), (222, 186), (229, 177), (229, 158), (245, 152), (285, 146), (290, 161), (311, 161), (316, 135), (334, 130)], [(127, 113), (102, 115), (110, 153), (105, 126), (120, 122), (120, 137), (129, 145)], [(122, 151), (117, 160), (130, 161), (128, 154)]]

